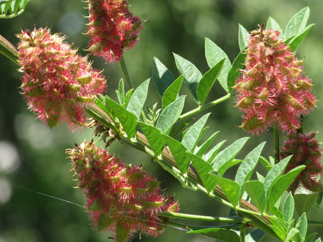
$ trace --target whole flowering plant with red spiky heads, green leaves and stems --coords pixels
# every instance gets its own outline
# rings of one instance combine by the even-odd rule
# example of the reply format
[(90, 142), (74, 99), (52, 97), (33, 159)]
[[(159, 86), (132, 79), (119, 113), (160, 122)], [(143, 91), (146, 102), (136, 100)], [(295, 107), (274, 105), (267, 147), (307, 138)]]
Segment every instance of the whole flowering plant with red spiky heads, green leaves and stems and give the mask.
[[(3, 16), (22, 13), (27, 2), (1, 2)], [(240, 53), (232, 64), (207, 38), (205, 56), (210, 69), (204, 75), (174, 54), (178, 78), (154, 58), (151, 79), (137, 87), (124, 53), (138, 45), (144, 21), (131, 13), (126, 0), (89, 0), (88, 9), (89, 54), (106, 64), (120, 63), (128, 85), (126, 92), (120, 80), (115, 99), (107, 87), (113, 80), (107, 81), (88, 56), (82, 57), (65, 37), (52, 34), (49, 28), (22, 30), (17, 47), (3, 37), (0, 44), (1, 53), (20, 66), (21, 94), (37, 118), (50, 129), (64, 123), (72, 132), (93, 129), (91, 141), (75, 143), (66, 153), (85, 197), (83, 207), (98, 233), (107, 232), (109, 239), (124, 242), (142, 234), (160, 237), (166, 227), (175, 227), (224, 242), (261, 241), (266, 234), (275, 241), (321, 241), (317, 233), (307, 233), (307, 225), (323, 222), (307, 220), (307, 212), (311, 207), (323, 210), (322, 149), (316, 133), (306, 134), (309, 127), (303, 121), (315, 110), (318, 98), (303, 60), (296, 57), (297, 46), (313, 26), (306, 25), (308, 7), (292, 17), (285, 32), (272, 18), (250, 33), (240, 25)], [(225, 95), (207, 102), (216, 80)], [(161, 98), (160, 109), (147, 98), (150, 82)], [(191, 97), (180, 96), (182, 86)], [(202, 111), (213, 112), (212, 108), (233, 97), (235, 106), (244, 112), (240, 127), (245, 136), (273, 133), (273, 157), (261, 156), (265, 142), (238, 155), (249, 137), (238, 138), (222, 150), (225, 141), (212, 145), (218, 132), (202, 137), (211, 114)], [(183, 113), (189, 98), (197, 107), (186, 105), (188, 111)], [(191, 124), (193, 115), (196, 121)], [(105, 147), (96, 145), (99, 141)], [(164, 193), (163, 183), (144, 164), (129, 164), (108, 150), (116, 143), (145, 153), (184, 188), (200, 190), (224, 204), (229, 216), (216, 217), (212, 210), (207, 216), (179, 213), (181, 201)], [(258, 163), (266, 170), (265, 176), (255, 174)], [(231, 167), (235, 176), (228, 174)], [(286, 190), (289, 193), (282, 202)], [(192, 225), (190, 220), (212, 224)]]

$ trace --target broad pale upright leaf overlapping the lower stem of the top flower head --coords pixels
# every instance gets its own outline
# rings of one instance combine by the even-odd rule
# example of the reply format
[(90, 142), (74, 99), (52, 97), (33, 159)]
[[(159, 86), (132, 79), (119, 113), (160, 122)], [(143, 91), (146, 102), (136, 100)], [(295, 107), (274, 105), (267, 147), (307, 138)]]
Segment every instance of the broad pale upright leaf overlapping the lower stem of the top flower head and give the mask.
[(146, 101), (149, 81), (150, 79), (144, 81), (140, 84), (140, 86), (136, 88), (136, 90), (131, 95), (129, 104), (127, 106), (127, 110), (133, 113), (138, 120), (140, 119), (141, 111)]

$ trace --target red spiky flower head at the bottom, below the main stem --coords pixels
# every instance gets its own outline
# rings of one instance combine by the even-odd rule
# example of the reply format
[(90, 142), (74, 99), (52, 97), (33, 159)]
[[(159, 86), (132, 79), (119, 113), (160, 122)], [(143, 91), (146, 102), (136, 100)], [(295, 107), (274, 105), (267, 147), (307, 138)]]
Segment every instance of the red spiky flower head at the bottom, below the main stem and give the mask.
[(86, 197), (86, 209), (98, 232), (109, 231), (117, 242), (135, 233), (160, 236), (169, 218), (161, 211), (177, 212), (173, 197), (161, 193), (158, 182), (141, 166), (131, 166), (91, 142), (67, 150)]

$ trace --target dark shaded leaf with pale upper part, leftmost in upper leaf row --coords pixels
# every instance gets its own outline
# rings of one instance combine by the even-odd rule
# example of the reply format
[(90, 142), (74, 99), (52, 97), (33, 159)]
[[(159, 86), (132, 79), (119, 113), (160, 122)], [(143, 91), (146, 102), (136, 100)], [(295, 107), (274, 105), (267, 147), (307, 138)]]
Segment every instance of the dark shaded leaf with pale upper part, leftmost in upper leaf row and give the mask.
[(166, 89), (175, 81), (172, 73), (156, 57), (152, 60), (152, 82), (162, 98)]

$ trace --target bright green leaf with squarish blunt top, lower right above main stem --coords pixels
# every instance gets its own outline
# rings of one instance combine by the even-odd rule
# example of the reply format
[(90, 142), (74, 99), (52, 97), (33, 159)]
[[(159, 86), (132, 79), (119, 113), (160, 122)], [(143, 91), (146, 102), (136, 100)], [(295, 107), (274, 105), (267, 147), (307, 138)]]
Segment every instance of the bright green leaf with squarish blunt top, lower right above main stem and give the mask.
[(251, 201), (261, 213), (266, 210), (266, 193), (265, 186), (260, 181), (246, 181), (244, 184), (245, 191), (248, 193)]

